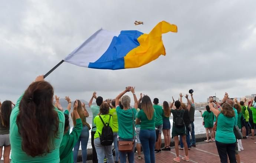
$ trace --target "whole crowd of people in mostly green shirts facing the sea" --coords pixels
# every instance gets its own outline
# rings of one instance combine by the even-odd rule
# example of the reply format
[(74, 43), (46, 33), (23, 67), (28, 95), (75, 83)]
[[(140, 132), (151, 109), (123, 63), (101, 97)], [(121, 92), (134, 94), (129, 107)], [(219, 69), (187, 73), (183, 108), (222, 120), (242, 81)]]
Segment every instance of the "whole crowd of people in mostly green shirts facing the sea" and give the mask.
[[(128, 92), (132, 93), (133, 107)], [(80, 144), (85, 163), (89, 130), (93, 163), (104, 163), (105, 160), (109, 163), (126, 163), (127, 159), (129, 163), (134, 163), (135, 147), (138, 160), (155, 163), (155, 154), (171, 150), (171, 136), (175, 143), (175, 162), (180, 162), (179, 150), (185, 150), (185, 156), (181, 159), (189, 161), (188, 150), (196, 147), (193, 93), (190, 93), (190, 98), (188, 94), (184, 96), (186, 103), (183, 103), (183, 94), (180, 93), (178, 100), (172, 98), (170, 104), (164, 101), (162, 107), (158, 98), (151, 101), (149, 96), (140, 93), (138, 99), (135, 87), (126, 87), (113, 100), (103, 100), (93, 92), (89, 101), (92, 126), (86, 122), (89, 113), (84, 103), (75, 100), (72, 110), (72, 101), (66, 96), (68, 107), (64, 110), (59, 97), (55, 96), (56, 103), (53, 104), (53, 95), (51, 84), (43, 76), (38, 76), (16, 104), (8, 100), (0, 103), (0, 149), (2, 151), (4, 146), (4, 163), (10, 161), (11, 147), (11, 159), (17, 163), (76, 163)], [(95, 105), (93, 99), (96, 100)], [(248, 106), (245, 106), (245, 102), (246, 99), (240, 102), (232, 100), (225, 93), (221, 103), (210, 98), (204, 113), (200, 110), (206, 128), (205, 142), (216, 142), (221, 163), (226, 163), (228, 159), (230, 163), (240, 162), (238, 152), (243, 150), (243, 146), (234, 134), (236, 127), (243, 134), (243, 139), (255, 136), (256, 97), (249, 101)], [(72, 122), (69, 122), (69, 114)], [(169, 120), (171, 114), (172, 125)], [(74, 126), (72, 132), (70, 123)], [(113, 144), (115, 157), (112, 152)]]

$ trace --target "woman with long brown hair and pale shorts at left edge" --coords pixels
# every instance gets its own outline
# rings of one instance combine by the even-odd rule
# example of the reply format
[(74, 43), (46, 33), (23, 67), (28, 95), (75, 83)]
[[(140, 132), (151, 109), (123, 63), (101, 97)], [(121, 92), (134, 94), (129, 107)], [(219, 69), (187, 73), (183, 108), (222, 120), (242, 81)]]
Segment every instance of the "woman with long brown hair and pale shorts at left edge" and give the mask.
[[(4, 146), (4, 163), (10, 162), (10, 115), (12, 112), (12, 102), (6, 100), (0, 105), (0, 158)], [(14, 104), (13, 104), (14, 105)], [(14, 105), (15, 106), (15, 105)]]

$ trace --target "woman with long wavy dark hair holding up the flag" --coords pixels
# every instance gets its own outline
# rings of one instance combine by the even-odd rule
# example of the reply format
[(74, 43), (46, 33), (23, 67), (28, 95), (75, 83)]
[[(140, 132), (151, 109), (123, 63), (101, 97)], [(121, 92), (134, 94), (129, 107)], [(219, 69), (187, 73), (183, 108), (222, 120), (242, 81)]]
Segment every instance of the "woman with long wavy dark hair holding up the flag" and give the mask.
[(12, 162), (59, 163), (65, 116), (53, 106), (53, 87), (38, 76), (10, 116)]

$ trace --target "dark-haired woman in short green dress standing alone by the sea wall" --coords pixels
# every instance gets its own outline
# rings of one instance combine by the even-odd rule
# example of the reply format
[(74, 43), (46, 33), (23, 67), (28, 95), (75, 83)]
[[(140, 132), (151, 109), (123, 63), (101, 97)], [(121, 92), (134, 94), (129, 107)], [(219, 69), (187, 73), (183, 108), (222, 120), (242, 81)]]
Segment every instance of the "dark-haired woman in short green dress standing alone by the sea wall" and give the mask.
[[(199, 112), (201, 113), (201, 117), (204, 118), (204, 128), (206, 130), (206, 140), (204, 140), (204, 142), (213, 142), (213, 119), (214, 119), (214, 115), (213, 112), (211, 112), (210, 107), (207, 105), (206, 106), (206, 110), (204, 111), (204, 113), (202, 114), (202, 111), (199, 110)], [(209, 131), (211, 134), (211, 140), (209, 140)]]

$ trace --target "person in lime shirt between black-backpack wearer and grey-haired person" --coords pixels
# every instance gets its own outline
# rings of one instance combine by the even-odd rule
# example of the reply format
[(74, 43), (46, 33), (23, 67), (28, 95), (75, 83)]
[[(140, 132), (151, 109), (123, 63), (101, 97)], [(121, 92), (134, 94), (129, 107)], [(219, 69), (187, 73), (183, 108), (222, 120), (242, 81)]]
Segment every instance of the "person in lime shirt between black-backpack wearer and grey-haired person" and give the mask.
[(118, 163), (119, 160), (119, 151), (118, 151), (118, 144), (117, 144), (117, 135), (118, 135), (118, 118), (116, 114), (116, 109), (115, 109), (115, 99), (112, 100), (111, 102), (112, 109), (109, 110), (109, 115), (113, 117), (113, 122), (112, 122), (112, 130), (114, 134), (114, 148), (115, 148), (115, 163)]

